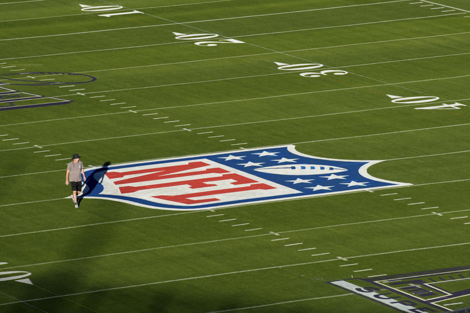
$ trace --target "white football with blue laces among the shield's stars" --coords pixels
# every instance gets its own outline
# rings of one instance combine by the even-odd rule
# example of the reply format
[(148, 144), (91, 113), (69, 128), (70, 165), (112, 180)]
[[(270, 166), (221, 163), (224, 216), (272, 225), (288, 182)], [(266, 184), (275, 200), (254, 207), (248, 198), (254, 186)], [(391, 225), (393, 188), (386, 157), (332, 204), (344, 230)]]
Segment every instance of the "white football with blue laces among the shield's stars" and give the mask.
[(331, 165), (317, 164), (284, 164), (256, 168), (255, 171), (279, 175), (320, 175), (347, 171), (347, 169)]

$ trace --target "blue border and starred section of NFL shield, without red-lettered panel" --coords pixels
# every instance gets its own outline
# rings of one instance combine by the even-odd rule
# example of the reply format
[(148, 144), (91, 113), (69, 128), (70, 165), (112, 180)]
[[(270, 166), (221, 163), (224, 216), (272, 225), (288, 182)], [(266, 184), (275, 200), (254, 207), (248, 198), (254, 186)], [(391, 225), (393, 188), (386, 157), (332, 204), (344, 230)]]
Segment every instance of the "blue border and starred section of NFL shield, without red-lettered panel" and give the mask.
[[(109, 192), (103, 185), (106, 173), (132, 171), (148, 166), (181, 164), (187, 161), (205, 160), (228, 171), (241, 173), (250, 179), (273, 186), (271, 191), (245, 193), (235, 200), (210, 201), (200, 204), (162, 203), (159, 199), (141, 198)], [(364, 190), (412, 185), (410, 183), (378, 179), (367, 169), (382, 160), (344, 160), (310, 156), (298, 152), (294, 145), (282, 145), (253, 149), (240, 149), (203, 155), (145, 160), (103, 167), (88, 168), (82, 197), (120, 201), (132, 205), (164, 210), (206, 210), (268, 201), (310, 198)], [(108, 183), (109, 185), (109, 183)], [(158, 194), (158, 193), (157, 193)], [(228, 194), (228, 193), (225, 193)], [(194, 197), (193, 197), (194, 198)]]

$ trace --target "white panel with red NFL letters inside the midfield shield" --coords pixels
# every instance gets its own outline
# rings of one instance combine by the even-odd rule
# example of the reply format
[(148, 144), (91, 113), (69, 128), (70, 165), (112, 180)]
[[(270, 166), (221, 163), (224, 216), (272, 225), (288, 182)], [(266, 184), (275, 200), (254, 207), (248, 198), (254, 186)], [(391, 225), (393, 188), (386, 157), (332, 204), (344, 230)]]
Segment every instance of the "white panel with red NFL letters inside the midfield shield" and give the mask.
[(272, 197), (299, 193), (205, 158), (109, 171), (101, 183), (110, 194), (166, 205), (193, 206), (238, 201), (254, 194)]

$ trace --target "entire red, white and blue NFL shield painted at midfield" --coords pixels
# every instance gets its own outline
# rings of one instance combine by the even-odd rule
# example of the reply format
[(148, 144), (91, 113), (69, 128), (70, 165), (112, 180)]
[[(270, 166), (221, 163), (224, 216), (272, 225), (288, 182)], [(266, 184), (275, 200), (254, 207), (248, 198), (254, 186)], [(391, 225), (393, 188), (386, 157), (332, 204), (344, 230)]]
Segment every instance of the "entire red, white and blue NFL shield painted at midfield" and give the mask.
[(157, 159), (87, 169), (83, 196), (204, 210), (410, 185), (369, 175), (377, 162), (308, 156), (293, 145)]

